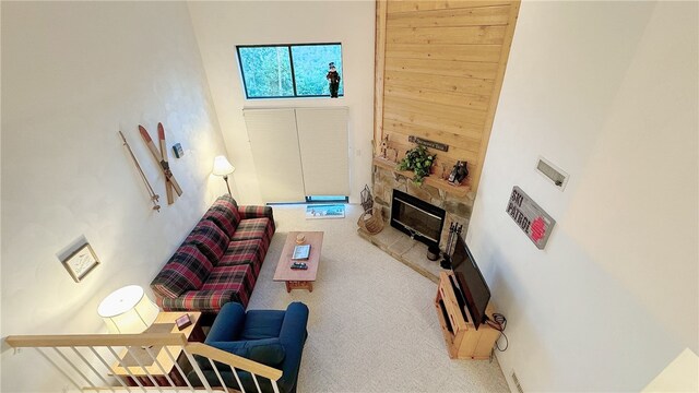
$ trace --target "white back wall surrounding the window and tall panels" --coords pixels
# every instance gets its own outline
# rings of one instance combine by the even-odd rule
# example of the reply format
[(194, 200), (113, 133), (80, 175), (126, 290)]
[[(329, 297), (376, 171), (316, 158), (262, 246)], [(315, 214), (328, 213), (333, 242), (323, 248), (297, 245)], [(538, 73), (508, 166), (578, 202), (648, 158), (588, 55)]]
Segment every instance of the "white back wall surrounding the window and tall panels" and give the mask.
[[(358, 202), (371, 180), (374, 1), (194, 1), (189, 9), (240, 202), (261, 202), (242, 108), (325, 106), (350, 108), (351, 201)], [(303, 43), (342, 43), (344, 97), (247, 100), (236, 45)]]

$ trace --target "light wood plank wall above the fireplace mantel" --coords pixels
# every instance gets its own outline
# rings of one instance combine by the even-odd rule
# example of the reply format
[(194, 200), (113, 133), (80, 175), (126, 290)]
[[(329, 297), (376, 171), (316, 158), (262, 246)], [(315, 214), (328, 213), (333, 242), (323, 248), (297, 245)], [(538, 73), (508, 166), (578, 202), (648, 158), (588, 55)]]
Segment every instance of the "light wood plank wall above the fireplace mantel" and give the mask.
[[(475, 192), (520, 1), (377, 0), (375, 143), (399, 157), (410, 135), (446, 143), (437, 174), (469, 162)], [(443, 165), (442, 165), (443, 164)]]

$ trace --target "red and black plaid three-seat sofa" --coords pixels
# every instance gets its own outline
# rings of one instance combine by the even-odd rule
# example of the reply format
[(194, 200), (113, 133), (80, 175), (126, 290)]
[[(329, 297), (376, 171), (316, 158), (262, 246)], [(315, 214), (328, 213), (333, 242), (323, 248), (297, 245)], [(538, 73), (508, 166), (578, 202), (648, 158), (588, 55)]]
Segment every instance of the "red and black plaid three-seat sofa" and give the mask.
[(218, 312), (252, 294), (274, 235), (269, 206), (238, 206), (218, 198), (151, 283), (165, 311)]

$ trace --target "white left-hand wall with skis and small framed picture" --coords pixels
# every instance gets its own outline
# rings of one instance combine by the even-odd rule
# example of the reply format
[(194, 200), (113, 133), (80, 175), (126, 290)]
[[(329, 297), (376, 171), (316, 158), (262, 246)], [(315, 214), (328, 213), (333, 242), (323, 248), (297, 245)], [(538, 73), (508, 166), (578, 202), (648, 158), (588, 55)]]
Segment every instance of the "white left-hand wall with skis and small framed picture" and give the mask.
[[(183, 195), (137, 126), (165, 124)], [(151, 211), (117, 135), (129, 140), (163, 209)], [(177, 2), (2, 2), (2, 336), (105, 332), (110, 291), (147, 288), (213, 199), (225, 154), (187, 5)], [(76, 284), (56, 254), (84, 235), (102, 264)], [(150, 289), (149, 295), (152, 296)], [(60, 391), (33, 352), (3, 347), (2, 391)]]

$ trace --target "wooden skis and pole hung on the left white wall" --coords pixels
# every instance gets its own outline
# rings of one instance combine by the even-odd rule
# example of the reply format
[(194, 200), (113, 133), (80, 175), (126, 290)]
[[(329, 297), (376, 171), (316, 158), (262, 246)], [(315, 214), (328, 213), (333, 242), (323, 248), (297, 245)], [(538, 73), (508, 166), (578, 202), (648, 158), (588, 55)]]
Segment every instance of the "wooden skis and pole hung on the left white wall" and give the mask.
[[(173, 171), (170, 170), (170, 166), (167, 162), (167, 146), (165, 144), (165, 128), (163, 127), (163, 123), (157, 123), (157, 136), (161, 145), (159, 152), (155, 147), (155, 143), (153, 143), (153, 140), (151, 139), (151, 135), (149, 134), (147, 130), (143, 126), (139, 124), (139, 132), (141, 132), (141, 136), (143, 138), (145, 145), (151, 151), (151, 154), (153, 154), (153, 157), (159, 164), (161, 170), (165, 176), (165, 193), (167, 195), (167, 204), (173, 204), (175, 203), (174, 193), (177, 193), (178, 196), (181, 196), (182, 189), (179, 187), (179, 183), (177, 182), (177, 180), (175, 180), (175, 176), (173, 176)], [(158, 200), (161, 196), (156, 194), (155, 191), (153, 190), (153, 187), (151, 187), (151, 183), (146, 179), (145, 174), (143, 174), (143, 170), (141, 169), (141, 165), (139, 164), (138, 159), (133, 155), (133, 152), (131, 151), (131, 146), (129, 146), (129, 143), (127, 142), (126, 138), (123, 138), (123, 134), (121, 133), (121, 131), (119, 131), (119, 135), (121, 135), (123, 145), (127, 146), (127, 148), (129, 150), (131, 159), (133, 159), (133, 164), (139, 170), (139, 174), (141, 175), (141, 178), (143, 179), (145, 187), (149, 190), (149, 195), (151, 196), (151, 201), (153, 202), (153, 210), (156, 210), (159, 212), (161, 206), (158, 205)]]

